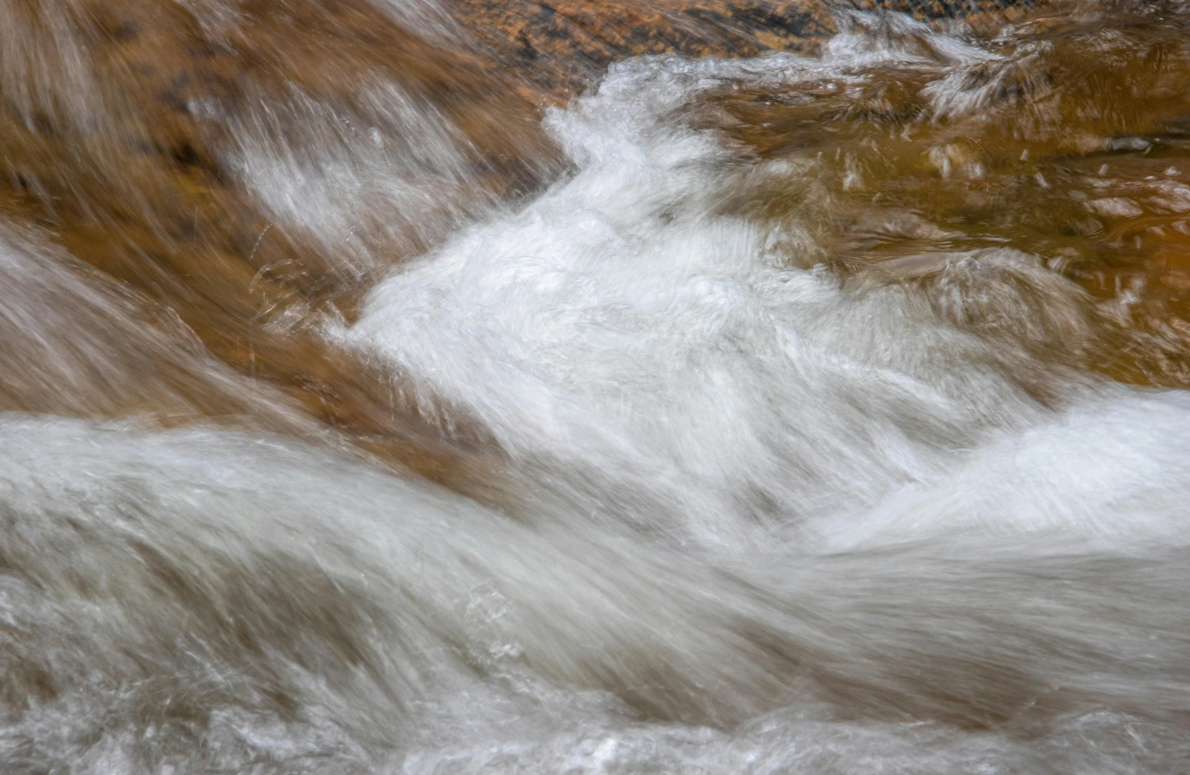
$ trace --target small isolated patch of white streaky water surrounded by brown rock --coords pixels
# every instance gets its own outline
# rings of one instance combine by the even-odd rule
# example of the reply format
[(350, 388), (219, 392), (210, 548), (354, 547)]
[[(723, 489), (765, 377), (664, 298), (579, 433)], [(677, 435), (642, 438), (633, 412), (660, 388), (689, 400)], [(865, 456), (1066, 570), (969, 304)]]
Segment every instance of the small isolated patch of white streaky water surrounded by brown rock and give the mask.
[(357, 106), (262, 96), (234, 127), (236, 166), (277, 222), (353, 273), (415, 253), (486, 203), (449, 120), (395, 83), (362, 92)]

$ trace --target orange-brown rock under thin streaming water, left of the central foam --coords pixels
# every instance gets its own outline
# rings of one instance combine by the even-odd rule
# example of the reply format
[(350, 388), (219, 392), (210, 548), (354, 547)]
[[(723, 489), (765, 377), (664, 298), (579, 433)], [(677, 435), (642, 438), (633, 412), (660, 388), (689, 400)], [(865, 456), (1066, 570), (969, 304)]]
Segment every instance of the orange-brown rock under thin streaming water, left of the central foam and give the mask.
[[(1016, 4), (879, 5), (941, 18)], [(445, 8), (457, 23), (443, 23), (437, 39), (427, 39), (382, 7), (365, 0), (0, 2), (15, 21), (0, 32), (0, 212), (100, 270), (114, 282), (121, 309), (165, 332), (139, 345), (109, 332), (114, 349), (139, 354), (129, 355), (119, 379), (94, 378), (89, 403), (48, 378), (8, 391), (5, 408), (112, 417), (150, 411), (161, 422), (198, 416), (305, 436), (334, 429), (382, 458), (450, 479), (468, 456), (457, 440), (439, 443), (416, 412), (393, 404), (387, 378), (321, 335), (267, 325), (270, 310), (308, 316), (333, 305), (350, 320), (359, 292), (386, 265), (420, 252), (475, 208), (540, 187), (560, 169), (539, 130), (540, 108), (580, 93), (615, 59), (812, 51), (832, 31), (827, 6), (806, 0), (450, 0)], [(463, 45), (466, 38), (480, 44)], [(344, 273), (326, 246), (277, 225), (244, 190), (232, 169), (240, 149), (230, 127), (252, 120), (262, 105), (288, 105), (295, 93), (364, 111), (352, 84), (386, 78), (458, 128), (470, 169), (453, 210), (432, 213), (430, 226), (405, 228), (399, 239), (389, 229), (378, 264)], [(300, 137), (287, 133), (302, 130), (273, 127), (281, 141), (298, 145)], [(367, 250), (367, 234), (358, 240)], [(194, 354), (188, 332), (226, 366), (212, 366), (201, 349)], [(212, 367), (223, 376), (211, 377)]]

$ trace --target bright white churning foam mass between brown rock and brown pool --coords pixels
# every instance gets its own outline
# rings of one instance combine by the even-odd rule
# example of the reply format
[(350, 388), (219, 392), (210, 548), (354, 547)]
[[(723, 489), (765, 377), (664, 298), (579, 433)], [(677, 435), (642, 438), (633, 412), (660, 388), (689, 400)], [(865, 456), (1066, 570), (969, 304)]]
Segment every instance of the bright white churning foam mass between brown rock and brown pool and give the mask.
[[(576, 174), (394, 273), (346, 339), (411, 377), (421, 405), (481, 421), (538, 485), (683, 540), (765, 543), (757, 523), (779, 534), (856, 515), (946, 475), (1050, 410), (923, 295), (845, 286), (806, 267), (787, 234), (718, 215), (747, 165), (675, 118), (710, 88), (852, 67), (613, 67), (547, 121)], [(1041, 275), (1031, 262), (956, 256), (942, 304), (1020, 305), (989, 296), (997, 272), (1077, 296), (1060, 278), (1029, 279)]]

